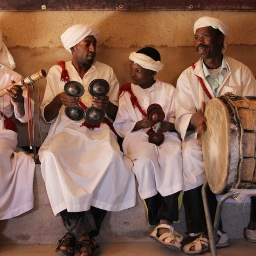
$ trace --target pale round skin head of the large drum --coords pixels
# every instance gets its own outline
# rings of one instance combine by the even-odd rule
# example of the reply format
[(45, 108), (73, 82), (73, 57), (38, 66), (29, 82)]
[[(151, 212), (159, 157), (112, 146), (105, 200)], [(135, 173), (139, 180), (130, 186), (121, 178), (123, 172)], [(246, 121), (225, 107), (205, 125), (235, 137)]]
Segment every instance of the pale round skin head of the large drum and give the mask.
[(230, 163), (230, 116), (224, 103), (212, 99), (205, 109), (207, 130), (202, 134), (204, 169), (215, 194), (224, 191)]

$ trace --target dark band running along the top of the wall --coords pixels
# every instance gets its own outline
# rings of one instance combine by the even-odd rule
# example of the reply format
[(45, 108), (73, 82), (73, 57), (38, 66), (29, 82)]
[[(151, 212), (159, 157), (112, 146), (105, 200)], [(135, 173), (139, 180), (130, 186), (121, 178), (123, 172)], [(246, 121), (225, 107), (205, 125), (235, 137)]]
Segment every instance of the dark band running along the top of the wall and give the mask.
[(256, 0), (0, 0), (0, 10), (255, 11)]

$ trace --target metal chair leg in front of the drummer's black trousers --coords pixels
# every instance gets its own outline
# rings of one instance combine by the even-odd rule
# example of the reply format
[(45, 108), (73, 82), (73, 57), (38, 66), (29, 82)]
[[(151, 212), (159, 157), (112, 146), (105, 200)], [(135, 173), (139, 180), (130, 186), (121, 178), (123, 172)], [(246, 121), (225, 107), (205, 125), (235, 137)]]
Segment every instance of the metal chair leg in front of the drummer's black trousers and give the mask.
[(208, 182), (206, 181), (202, 187), (202, 198), (203, 198), (203, 204), (204, 204), (204, 213), (205, 213), (205, 219), (207, 224), (207, 230), (208, 230), (208, 236), (209, 236), (209, 245), (210, 245), (210, 251), (212, 253), (212, 256), (217, 256), (216, 252), (216, 246), (215, 246), (215, 234), (213, 233), (212, 228), (212, 220), (209, 212), (209, 206), (208, 206), (208, 200), (207, 200), (207, 193), (206, 189), (208, 186)]

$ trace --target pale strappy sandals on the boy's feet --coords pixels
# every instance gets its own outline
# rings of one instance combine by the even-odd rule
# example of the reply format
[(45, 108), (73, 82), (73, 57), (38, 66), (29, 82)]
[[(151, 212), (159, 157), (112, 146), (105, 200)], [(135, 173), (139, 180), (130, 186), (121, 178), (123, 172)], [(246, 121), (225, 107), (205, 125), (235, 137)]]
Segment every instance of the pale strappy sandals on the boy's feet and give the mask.
[[(164, 233), (161, 236), (157, 236), (157, 230), (160, 228), (168, 228), (170, 231)], [(175, 235), (177, 234), (177, 235)], [(159, 241), (161, 244), (164, 244), (165, 246), (167, 246), (168, 248), (174, 249), (179, 251), (180, 250), (180, 240), (183, 240), (183, 236), (176, 232), (172, 226), (167, 225), (167, 224), (160, 224), (157, 227), (155, 227), (155, 229), (153, 230), (153, 232), (149, 235), (152, 239), (156, 239), (157, 241)], [(172, 243), (172, 241), (174, 243)]]

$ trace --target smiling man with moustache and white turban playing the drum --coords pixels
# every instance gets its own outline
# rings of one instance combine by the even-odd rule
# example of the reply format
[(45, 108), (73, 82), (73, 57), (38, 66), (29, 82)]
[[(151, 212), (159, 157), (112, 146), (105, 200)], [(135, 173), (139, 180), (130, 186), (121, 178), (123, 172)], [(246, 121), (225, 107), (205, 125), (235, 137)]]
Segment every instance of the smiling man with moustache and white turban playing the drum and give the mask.
[[(256, 96), (256, 80), (244, 64), (223, 55), (229, 29), (223, 21), (201, 17), (195, 22), (195, 49), (200, 59), (181, 73), (177, 80), (175, 128), (183, 139), (184, 199), (191, 219), (192, 235), (198, 239), (183, 247), (184, 253), (196, 254), (208, 250), (207, 226), (201, 197), (201, 187), (206, 180), (198, 134), (206, 128), (205, 105), (224, 93), (238, 96)], [(217, 201), (208, 190), (207, 197), (212, 220)], [(256, 229), (256, 226), (253, 227)], [(228, 245), (227, 233), (220, 223), (217, 247)]]

